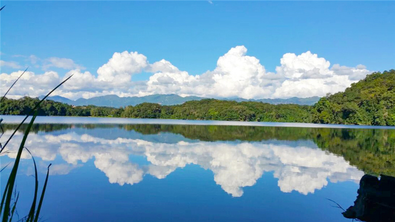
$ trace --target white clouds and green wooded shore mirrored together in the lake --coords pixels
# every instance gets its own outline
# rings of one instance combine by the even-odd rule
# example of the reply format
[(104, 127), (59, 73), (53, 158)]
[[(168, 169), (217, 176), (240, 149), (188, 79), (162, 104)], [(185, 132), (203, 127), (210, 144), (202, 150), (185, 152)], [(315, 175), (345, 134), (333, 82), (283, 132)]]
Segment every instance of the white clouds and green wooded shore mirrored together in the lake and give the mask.
[[(6, 125), (5, 137), (11, 128)], [(22, 131), (9, 145), (8, 157), (15, 156), (21, 137)], [(28, 139), (35, 157), (64, 160), (53, 165), (51, 174), (68, 174), (94, 159), (111, 183), (123, 185), (139, 183), (145, 175), (166, 178), (195, 164), (212, 171), (214, 181), (234, 197), (265, 172), (274, 172), (282, 192), (308, 194), (328, 180), (357, 183), (364, 171), (394, 174), (395, 163), (394, 130), (40, 124)], [(148, 163), (139, 165), (130, 156)]]

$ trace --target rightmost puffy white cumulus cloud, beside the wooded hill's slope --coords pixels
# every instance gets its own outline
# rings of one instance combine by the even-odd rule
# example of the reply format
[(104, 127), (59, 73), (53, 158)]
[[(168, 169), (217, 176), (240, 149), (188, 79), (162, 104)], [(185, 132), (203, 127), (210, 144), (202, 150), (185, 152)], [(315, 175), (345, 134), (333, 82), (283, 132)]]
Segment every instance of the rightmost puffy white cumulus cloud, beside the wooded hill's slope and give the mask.
[(275, 98), (324, 96), (326, 93), (343, 91), (351, 84), (371, 73), (363, 65), (355, 68), (335, 64), (319, 58), (310, 51), (295, 55), (286, 53), (276, 67), (277, 74), (285, 76), (285, 81), (273, 93)]

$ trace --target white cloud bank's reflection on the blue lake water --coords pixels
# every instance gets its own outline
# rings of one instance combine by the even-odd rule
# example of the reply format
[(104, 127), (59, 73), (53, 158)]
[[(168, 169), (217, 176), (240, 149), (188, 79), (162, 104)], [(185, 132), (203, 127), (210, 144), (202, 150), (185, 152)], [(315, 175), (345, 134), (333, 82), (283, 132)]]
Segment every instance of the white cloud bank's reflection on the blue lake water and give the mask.
[[(7, 137), (11, 132), (5, 132)], [(17, 150), (22, 138), (17, 133), (9, 144)], [(143, 139), (104, 139), (75, 132), (52, 134), (29, 134), (27, 146), (34, 156), (44, 161), (61, 156), (66, 162), (55, 165), (52, 174), (68, 174), (90, 159), (96, 168), (105, 173), (111, 183), (134, 184), (149, 174), (165, 178), (177, 168), (196, 164), (214, 174), (214, 181), (234, 197), (243, 194), (242, 188), (253, 186), (264, 172), (274, 172), (282, 192), (293, 190), (308, 194), (331, 182), (354, 180), (364, 175), (343, 157), (322, 151), (313, 143), (289, 141), (265, 142), (207, 142), (179, 141), (177, 143), (151, 142)], [(33, 145), (34, 144), (34, 145)], [(15, 153), (7, 154), (15, 157)], [(129, 156), (143, 156), (148, 166), (139, 166)], [(24, 153), (22, 158), (30, 158)]]

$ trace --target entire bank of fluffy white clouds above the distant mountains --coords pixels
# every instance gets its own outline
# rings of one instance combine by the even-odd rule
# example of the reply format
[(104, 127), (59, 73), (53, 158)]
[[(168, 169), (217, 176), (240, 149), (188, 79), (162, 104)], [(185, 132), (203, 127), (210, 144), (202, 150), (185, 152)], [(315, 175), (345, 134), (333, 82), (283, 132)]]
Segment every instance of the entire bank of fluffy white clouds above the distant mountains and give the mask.
[[(75, 76), (55, 92), (71, 99), (106, 94), (144, 96), (156, 93), (247, 99), (323, 96), (328, 92), (342, 91), (371, 73), (363, 65), (330, 66), (329, 61), (310, 51), (300, 55), (286, 53), (280, 59), (276, 72), (268, 72), (259, 59), (247, 55), (247, 48), (243, 45), (231, 48), (218, 58), (214, 70), (200, 75), (190, 75), (164, 59), (151, 64), (145, 55), (128, 51), (114, 53), (106, 64), (98, 68), (97, 75), (81, 72), (83, 67), (73, 60), (57, 58), (51, 64), (72, 69), (64, 78), (71, 74)], [(132, 76), (141, 72), (153, 75), (148, 81), (133, 81)], [(7, 89), (20, 73), (1, 74), (1, 88)], [(48, 80), (49, 73), (53, 73), (51, 81)], [(64, 78), (55, 72), (40, 75), (30, 72), (15, 88), (20, 89), (26, 84), (29, 87), (11, 91), (10, 95), (38, 96)], [(54, 84), (49, 86), (48, 82)]]

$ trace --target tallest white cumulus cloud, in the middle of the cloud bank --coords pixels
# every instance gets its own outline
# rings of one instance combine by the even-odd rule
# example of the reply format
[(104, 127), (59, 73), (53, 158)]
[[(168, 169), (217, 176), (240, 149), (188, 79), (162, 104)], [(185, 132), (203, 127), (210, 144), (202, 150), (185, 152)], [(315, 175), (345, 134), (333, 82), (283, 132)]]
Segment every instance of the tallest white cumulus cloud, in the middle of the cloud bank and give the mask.
[(205, 97), (263, 98), (279, 85), (281, 76), (267, 73), (259, 59), (247, 56), (247, 48), (231, 48), (217, 61), (213, 71), (189, 75), (178, 69), (155, 73), (147, 85), (149, 93), (176, 93)]

